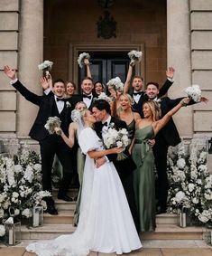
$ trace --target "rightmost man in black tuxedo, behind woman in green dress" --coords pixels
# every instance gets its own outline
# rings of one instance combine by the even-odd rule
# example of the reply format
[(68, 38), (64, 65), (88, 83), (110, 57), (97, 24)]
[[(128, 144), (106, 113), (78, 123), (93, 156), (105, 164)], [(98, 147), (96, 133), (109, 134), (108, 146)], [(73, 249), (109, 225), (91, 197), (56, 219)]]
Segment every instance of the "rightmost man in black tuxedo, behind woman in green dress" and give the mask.
[[(171, 100), (169, 97), (158, 99), (160, 95), (159, 84), (157, 82), (149, 82), (146, 86), (146, 95), (149, 100), (158, 102), (161, 108), (161, 118), (165, 116), (171, 109), (179, 104), (183, 98)], [(207, 102), (207, 99), (201, 97), (200, 101)], [(190, 100), (189, 105), (194, 104)], [(170, 146), (177, 146), (180, 143), (180, 135), (173, 119), (171, 118), (167, 125), (155, 137), (155, 145), (152, 147), (155, 166), (158, 175), (156, 185), (157, 213), (165, 213), (167, 208), (167, 196), (169, 190), (169, 182), (167, 176), (167, 154)]]

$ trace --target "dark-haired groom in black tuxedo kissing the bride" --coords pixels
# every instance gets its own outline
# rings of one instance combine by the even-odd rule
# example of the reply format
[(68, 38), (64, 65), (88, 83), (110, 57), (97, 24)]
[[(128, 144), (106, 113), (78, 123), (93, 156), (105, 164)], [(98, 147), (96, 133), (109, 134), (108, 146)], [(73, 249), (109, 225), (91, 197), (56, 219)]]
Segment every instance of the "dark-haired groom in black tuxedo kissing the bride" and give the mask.
[[(97, 120), (95, 124), (95, 130), (97, 132), (97, 136), (102, 138), (102, 135), (107, 132), (110, 124), (113, 123), (115, 129), (127, 128), (126, 123), (120, 119), (115, 119), (111, 117), (110, 113), (110, 105), (106, 100), (95, 100), (92, 105), (93, 116)], [(134, 202), (134, 184), (133, 184), (133, 171), (134, 171), (134, 162), (132, 158), (129, 156), (127, 149), (124, 151), (128, 157), (125, 160), (117, 161), (117, 154), (112, 154), (108, 156), (104, 156), (102, 158), (97, 159), (97, 166), (101, 166), (106, 161), (112, 161), (115, 165), (117, 173), (122, 181), (122, 185), (124, 187), (124, 192), (130, 206), (131, 213), (134, 218), (134, 224), (136, 229), (138, 230), (138, 217), (137, 210)]]

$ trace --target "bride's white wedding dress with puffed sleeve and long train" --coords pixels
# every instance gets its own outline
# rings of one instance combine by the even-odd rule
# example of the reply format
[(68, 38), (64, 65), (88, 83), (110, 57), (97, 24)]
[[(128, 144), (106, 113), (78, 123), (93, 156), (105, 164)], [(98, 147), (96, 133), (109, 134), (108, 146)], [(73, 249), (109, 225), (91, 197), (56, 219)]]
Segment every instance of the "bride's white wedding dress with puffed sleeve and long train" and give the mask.
[[(87, 154), (101, 150), (102, 143), (92, 128), (85, 128), (78, 144)], [(83, 256), (89, 251), (122, 254), (142, 247), (124, 188), (112, 162), (96, 168), (87, 154), (78, 228), (48, 242), (34, 242), (26, 250), (39, 256)]]

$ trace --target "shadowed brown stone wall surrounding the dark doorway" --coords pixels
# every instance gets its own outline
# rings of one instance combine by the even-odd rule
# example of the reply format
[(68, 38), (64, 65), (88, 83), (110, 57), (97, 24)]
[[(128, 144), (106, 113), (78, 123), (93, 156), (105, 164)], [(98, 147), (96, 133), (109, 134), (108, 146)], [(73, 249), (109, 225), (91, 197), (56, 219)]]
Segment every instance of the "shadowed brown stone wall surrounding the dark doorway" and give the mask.
[[(110, 39), (97, 37), (97, 21), (104, 13), (104, 8), (97, 2), (44, 2), (44, 59), (54, 62), (53, 77), (69, 78), (69, 43), (144, 43), (145, 81), (161, 84), (167, 67), (166, 0), (115, 0), (108, 11), (117, 23), (117, 33)], [(77, 80), (75, 77), (71, 79)]]

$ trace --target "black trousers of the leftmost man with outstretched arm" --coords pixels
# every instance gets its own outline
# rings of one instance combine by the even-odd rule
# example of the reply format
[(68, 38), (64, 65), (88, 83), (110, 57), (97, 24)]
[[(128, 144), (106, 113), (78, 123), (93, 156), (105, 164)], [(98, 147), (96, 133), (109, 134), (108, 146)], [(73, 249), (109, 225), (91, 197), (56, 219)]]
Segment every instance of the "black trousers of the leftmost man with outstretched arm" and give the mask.
[(72, 152), (61, 137), (51, 135), (40, 142), (41, 147), (41, 174), (42, 189), (52, 192), (51, 169), (55, 154), (58, 156), (63, 167), (62, 180), (59, 193), (66, 194), (72, 180)]

